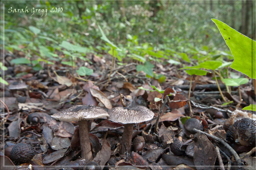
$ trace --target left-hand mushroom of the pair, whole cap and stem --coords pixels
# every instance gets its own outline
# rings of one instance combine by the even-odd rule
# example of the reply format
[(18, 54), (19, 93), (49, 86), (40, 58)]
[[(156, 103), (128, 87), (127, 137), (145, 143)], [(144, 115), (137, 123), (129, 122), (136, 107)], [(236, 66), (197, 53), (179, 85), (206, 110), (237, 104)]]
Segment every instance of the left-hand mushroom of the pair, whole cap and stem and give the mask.
[(53, 118), (71, 122), (78, 121), (79, 126), (79, 136), (80, 136), (80, 146), (82, 150), (82, 157), (92, 160), (93, 154), (91, 152), (90, 140), (89, 140), (89, 131), (88, 131), (88, 120), (93, 120), (101, 118), (104, 116), (109, 116), (108, 113), (101, 107), (98, 106), (86, 106), (86, 105), (77, 105), (72, 106), (68, 109), (60, 111), (52, 115)]

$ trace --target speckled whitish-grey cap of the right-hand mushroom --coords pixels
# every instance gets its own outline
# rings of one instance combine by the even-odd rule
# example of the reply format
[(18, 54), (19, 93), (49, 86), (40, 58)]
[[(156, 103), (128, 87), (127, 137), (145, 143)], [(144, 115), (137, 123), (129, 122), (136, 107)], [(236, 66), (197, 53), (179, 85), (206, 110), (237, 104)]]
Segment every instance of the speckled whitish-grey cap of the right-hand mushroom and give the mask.
[(109, 110), (109, 120), (116, 123), (140, 123), (153, 119), (154, 113), (144, 106), (114, 107)]

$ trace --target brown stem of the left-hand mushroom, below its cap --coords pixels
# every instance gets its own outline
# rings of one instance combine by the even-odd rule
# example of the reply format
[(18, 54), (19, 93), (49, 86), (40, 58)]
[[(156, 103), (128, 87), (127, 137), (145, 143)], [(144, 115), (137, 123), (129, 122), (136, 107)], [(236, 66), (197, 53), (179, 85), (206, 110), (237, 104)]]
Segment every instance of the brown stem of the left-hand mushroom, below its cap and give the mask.
[(87, 120), (80, 120), (78, 121), (78, 125), (82, 158), (93, 160), (93, 153), (91, 152), (91, 145), (88, 132), (88, 122)]

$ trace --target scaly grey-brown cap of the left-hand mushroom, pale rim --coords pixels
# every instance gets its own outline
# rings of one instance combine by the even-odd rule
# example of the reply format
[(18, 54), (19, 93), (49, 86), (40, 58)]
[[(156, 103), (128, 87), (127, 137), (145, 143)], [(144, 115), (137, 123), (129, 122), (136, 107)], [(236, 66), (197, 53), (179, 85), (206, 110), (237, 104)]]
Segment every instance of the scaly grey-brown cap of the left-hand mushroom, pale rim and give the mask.
[(93, 120), (104, 116), (109, 116), (108, 112), (101, 107), (91, 105), (72, 106), (52, 115), (53, 118), (65, 122)]

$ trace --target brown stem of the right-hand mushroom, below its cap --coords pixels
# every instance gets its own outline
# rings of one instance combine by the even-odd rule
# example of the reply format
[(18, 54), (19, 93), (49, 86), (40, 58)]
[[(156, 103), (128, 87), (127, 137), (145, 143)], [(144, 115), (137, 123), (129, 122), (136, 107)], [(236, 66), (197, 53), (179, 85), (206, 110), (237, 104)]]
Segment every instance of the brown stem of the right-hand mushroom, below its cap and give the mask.
[(128, 153), (131, 152), (131, 139), (132, 139), (132, 131), (133, 131), (133, 123), (125, 124), (124, 133), (121, 139), (121, 150), (120, 154), (123, 155), (125, 151)]

